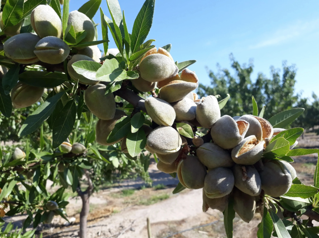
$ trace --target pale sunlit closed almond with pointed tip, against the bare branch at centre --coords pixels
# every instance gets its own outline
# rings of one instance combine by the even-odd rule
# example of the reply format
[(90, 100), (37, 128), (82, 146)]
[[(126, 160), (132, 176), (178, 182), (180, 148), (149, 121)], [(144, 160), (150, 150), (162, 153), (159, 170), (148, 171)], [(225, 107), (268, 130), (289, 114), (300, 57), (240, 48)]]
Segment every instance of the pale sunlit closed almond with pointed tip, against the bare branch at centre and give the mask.
[(148, 97), (145, 100), (147, 114), (159, 126), (172, 126), (176, 117), (174, 108), (158, 97)]

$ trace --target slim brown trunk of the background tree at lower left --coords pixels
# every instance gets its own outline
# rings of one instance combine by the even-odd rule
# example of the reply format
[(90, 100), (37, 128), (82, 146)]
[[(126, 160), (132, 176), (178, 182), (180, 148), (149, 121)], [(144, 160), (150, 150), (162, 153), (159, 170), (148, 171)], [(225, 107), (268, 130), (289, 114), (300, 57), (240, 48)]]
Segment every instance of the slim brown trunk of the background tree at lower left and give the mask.
[(85, 176), (87, 178), (89, 187), (84, 192), (81, 191), (80, 184), (78, 184), (78, 188), (77, 188), (78, 195), (82, 199), (82, 210), (80, 213), (80, 231), (79, 231), (80, 238), (87, 237), (87, 216), (89, 215), (89, 211), (90, 211), (90, 196), (93, 191), (93, 183), (90, 177), (90, 173), (86, 169), (84, 169), (84, 171), (85, 171)]

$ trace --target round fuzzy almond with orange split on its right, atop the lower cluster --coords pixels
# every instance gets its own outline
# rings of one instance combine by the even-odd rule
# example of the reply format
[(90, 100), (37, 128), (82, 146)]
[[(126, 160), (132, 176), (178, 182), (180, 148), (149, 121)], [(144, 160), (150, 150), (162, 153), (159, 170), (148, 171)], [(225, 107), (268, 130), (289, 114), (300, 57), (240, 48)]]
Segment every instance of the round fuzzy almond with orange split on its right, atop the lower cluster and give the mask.
[(221, 148), (231, 149), (245, 138), (248, 128), (247, 121), (235, 121), (232, 117), (225, 115), (211, 127), (211, 138)]

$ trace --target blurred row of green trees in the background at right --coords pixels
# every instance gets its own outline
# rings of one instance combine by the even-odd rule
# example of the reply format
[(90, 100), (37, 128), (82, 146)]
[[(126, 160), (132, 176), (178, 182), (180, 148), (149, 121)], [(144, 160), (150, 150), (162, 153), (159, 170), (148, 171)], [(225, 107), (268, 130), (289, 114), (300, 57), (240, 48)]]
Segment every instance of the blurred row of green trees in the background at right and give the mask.
[(257, 105), (266, 105), (264, 108), (266, 118), (286, 109), (300, 107), (304, 108), (305, 112), (291, 126), (309, 130), (318, 125), (319, 98), (315, 93), (312, 95), (312, 100), (303, 98), (301, 93), (295, 89), (297, 71), (295, 65), (288, 66), (284, 61), (282, 71), (271, 66), (270, 78), (263, 73), (258, 73), (257, 79), (253, 80), (251, 77), (254, 68), (252, 61), (248, 65), (240, 65), (234, 59), (233, 54), (230, 54), (230, 61), (231, 68), (235, 71), (234, 75), (229, 69), (221, 69), (217, 65), (217, 73), (208, 70), (211, 85), (200, 84), (197, 92), (200, 97), (220, 95), (221, 98), (225, 98), (229, 94), (229, 103), (223, 108), (222, 115), (251, 114), (251, 95), (254, 95)]

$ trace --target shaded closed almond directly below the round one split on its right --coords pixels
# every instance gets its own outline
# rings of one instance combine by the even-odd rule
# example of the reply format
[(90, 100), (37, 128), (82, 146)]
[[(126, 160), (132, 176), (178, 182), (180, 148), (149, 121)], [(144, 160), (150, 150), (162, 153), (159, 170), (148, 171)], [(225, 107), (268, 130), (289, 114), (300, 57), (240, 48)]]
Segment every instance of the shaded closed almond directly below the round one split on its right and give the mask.
[(196, 154), (198, 159), (209, 169), (234, 165), (229, 152), (214, 143), (204, 143), (197, 148)]

